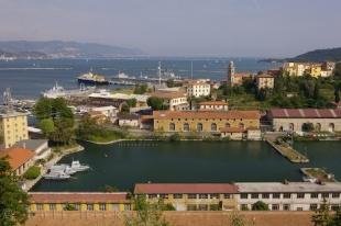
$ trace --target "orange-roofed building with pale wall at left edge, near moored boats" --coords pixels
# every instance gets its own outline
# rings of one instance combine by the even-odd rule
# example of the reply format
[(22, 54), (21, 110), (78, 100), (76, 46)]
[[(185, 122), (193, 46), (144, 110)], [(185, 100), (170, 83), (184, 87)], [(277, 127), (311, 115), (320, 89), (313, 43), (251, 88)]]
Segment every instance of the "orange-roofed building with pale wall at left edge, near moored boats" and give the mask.
[(16, 176), (23, 174), (32, 165), (35, 152), (25, 148), (8, 148), (0, 150), (0, 158), (8, 157), (8, 161)]

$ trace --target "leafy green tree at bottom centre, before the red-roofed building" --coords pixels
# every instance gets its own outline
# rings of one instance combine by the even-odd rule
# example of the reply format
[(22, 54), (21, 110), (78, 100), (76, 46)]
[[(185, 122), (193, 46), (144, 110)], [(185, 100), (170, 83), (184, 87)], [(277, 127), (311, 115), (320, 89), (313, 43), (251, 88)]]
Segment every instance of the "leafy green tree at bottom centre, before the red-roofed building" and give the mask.
[(148, 202), (144, 195), (134, 199), (135, 216), (125, 216), (125, 226), (168, 226), (163, 217), (164, 203)]

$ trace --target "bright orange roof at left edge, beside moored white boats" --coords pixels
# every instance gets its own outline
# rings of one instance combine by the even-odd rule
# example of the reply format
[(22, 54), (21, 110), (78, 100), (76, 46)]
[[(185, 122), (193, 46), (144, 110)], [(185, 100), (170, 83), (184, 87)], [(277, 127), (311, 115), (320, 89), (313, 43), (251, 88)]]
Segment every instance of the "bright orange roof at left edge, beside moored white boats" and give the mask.
[(33, 150), (19, 147), (0, 150), (0, 158), (8, 156), (8, 160), (13, 170), (16, 170), (23, 163), (28, 162), (34, 155), (35, 152)]

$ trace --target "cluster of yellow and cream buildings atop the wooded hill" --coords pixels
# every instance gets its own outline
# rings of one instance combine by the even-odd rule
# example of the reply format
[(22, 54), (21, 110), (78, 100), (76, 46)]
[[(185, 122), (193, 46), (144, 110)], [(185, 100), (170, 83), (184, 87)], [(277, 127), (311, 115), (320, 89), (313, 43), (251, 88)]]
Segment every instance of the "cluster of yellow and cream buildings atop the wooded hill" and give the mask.
[(336, 68), (334, 63), (285, 63), (283, 71), (288, 76), (330, 77)]

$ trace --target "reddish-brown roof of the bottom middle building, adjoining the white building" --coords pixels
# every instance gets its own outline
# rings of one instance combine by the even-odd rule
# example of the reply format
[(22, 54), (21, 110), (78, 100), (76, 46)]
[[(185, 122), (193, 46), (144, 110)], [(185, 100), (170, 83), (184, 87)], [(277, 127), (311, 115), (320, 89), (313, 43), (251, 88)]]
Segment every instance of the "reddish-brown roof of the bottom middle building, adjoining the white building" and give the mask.
[(238, 188), (229, 183), (138, 183), (135, 194), (207, 194), (237, 193)]

